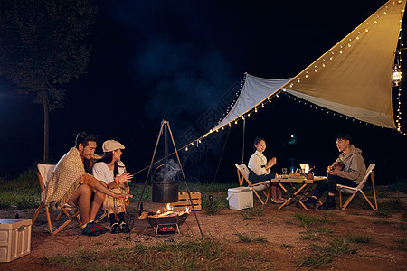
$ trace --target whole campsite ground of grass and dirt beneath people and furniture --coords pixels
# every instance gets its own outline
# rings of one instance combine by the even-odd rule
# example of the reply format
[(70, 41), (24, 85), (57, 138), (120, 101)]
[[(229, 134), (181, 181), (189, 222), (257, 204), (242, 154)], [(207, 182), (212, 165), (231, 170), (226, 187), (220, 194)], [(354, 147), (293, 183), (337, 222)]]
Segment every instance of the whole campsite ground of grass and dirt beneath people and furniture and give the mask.
[[(0, 179), (0, 214), (20, 213), (20, 217), (30, 217), (40, 201), (37, 183), (35, 168), (14, 180)], [(226, 194), (235, 184), (191, 183), (191, 190), (202, 193), (203, 210), (199, 218), (204, 240), (189, 234), (151, 238), (139, 226), (131, 243), (119, 241), (124, 237), (109, 233), (84, 239), (75, 233), (78, 231), (75, 225), (60, 236), (49, 238), (46, 226), (43, 227), (45, 220), (40, 216), (33, 226), (32, 255), (0, 264), (0, 269), (24, 270), (28, 266), (32, 270), (348, 270), (351, 267), (402, 270), (407, 264), (406, 184), (401, 180), (376, 187), (378, 211), (371, 210), (363, 197), (356, 196), (345, 211), (307, 212), (293, 204), (277, 210), (277, 205), (261, 206), (258, 202), (252, 209), (232, 211), (228, 209)], [(140, 183), (131, 184), (135, 199), (139, 198), (142, 187)], [(147, 186), (143, 201), (151, 202), (150, 195)], [(209, 204), (209, 195), (213, 196), (213, 206)], [(136, 212), (134, 201), (130, 213)], [(188, 220), (196, 232), (194, 219)], [(44, 244), (53, 249), (42, 250)], [(52, 246), (69, 248), (69, 252), (62, 249), (62, 253)]]

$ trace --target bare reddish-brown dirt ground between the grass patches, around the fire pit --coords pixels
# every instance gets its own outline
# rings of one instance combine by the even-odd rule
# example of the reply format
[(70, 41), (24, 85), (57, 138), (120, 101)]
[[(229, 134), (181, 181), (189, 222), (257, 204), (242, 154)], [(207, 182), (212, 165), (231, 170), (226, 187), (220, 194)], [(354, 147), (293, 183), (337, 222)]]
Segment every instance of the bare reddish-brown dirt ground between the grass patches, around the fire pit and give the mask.
[[(399, 193), (396, 196), (403, 202), (407, 200), (405, 193)], [(259, 201), (255, 199), (255, 203), (255, 210), (260, 210)], [(129, 210), (134, 210), (135, 205), (137, 202), (132, 201)], [(144, 209), (156, 211), (162, 209), (163, 205), (145, 202)], [(207, 215), (203, 211), (197, 211), (196, 214), (205, 238), (216, 238), (234, 249), (262, 251), (264, 255), (270, 256), (275, 270), (298, 270), (296, 261), (310, 255), (312, 244), (327, 245), (327, 241), (332, 240), (333, 237), (344, 238), (351, 234), (370, 237), (371, 240), (368, 243), (355, 244), (358, 248), (355, 254), (339, 254), (334, 257), (329, 266), (318, 269), (407, 270), (407, 252), (405, 249), (397, 249), (397, 242), (395, 242), (397, 239), (407, 238), (405, 229), (400, 226), (406, 224), (406, 219), (400, 213), (380, 217), (374, 215), (374, 210), (368, 209), (367, 203), (361, 208), (360, 204), (353, 205), (352, 202), (346, 210), (306, 211), (296, 204), (291, 204), (283, 210), (278, 210), (278, 207), (276, 204), (268, 203), (263, 207), (261, 216), (253, 216), (251, 219), (243, 217), (244, 214), (250, 216), (249, 210), (222, 209), (214, 215)], [(31, 218), (33, 212), (34, 210), (0, 210), (0, 218), (14, 218), (15, 213), (18, 213), (20, 218)], [(317, 218), (323, 218), (325, 215), (335, 223), (324, 227), (334, 230), (329, 234), (313, 232), (312, 238), (304, 238), (308, 235), (305, 233), (307, 229), (293, 217), (296, 213), (310, 214)], [(102, 220), (101, 224), (109, 228), (109, 220)], [(71, 222), (58, 235), (52, 236), (47, 231), (44, 211), (42, 211), (33, 225), (31, 253), (11, 263), (0, 263), (0, 270), (58, 270), (56, 267), (42, 266), (41, 257), (73, 251), (78, 248), (79, 243), (100, 251), (108, 248), (132, 247), (135, 244), (148, 246), (169, 240), (179, 242), (183, 239), (200, 239), (201, 233), (194, 213), (190, 214), (186, 223), (180, 227), (180, 231), (180, 234), (156, 237), (155, 230), (146, 220), (136, 220), (130, 236), (124, 233), (112, 235), (108, 232), (98, 237), (85, 237), (80, 235), (78, 224)], [(236, 235), (237, 232), (248, 236), (260, 236), (266, 238), (267, 242), (242, 243)], [(308, 267), (300, 267), (299, 270), (308, 270)]]

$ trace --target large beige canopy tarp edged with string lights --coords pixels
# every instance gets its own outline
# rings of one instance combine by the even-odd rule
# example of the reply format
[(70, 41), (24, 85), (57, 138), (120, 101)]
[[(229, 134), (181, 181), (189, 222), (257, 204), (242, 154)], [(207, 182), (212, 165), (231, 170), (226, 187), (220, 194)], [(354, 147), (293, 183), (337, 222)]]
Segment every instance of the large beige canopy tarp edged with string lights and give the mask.
[(392, 68), (406, 0), (389, 1), (292, 79), (246, 75), (241, 95), (211, 132), (284, 90), (319, 107), (395, 129)]

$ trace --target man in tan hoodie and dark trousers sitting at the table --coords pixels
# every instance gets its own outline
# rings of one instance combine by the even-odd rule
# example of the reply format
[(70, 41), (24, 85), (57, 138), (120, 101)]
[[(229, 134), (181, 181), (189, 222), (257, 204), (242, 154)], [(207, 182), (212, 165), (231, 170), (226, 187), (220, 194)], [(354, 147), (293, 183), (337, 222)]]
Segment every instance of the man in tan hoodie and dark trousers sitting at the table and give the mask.
[(319, 206), (318, 209), (336, 209), (336, 183), (356, 187), (366, 173), (362, 150), (351, 145), (350, 135), (340, 133), (336, 135), (335, 140), (336, 147), (341, 154), (339, 154), (334, 164), (328, 166), (327, 180), (317, 182), (317, 187), (312, 193), (312, 197), (308, 198), (307, 201), (303, 201), (308, 208), (315, 208), (317, 200), (327, 191), (327, 201)]

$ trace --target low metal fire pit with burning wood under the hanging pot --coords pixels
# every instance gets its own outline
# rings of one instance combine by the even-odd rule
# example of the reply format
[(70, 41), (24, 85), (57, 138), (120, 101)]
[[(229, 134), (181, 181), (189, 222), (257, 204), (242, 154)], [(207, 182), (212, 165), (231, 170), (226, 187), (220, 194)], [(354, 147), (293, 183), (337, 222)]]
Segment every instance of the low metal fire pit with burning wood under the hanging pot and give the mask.
[(170, 204), (167, 204), (166, 211), (160, 213), (149, 213), (146, 217), (148, 224), (156, 229), (157, 234), (179, 233), (181, 226), (189, 215), (189, 211), (172, 211)]

